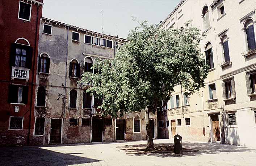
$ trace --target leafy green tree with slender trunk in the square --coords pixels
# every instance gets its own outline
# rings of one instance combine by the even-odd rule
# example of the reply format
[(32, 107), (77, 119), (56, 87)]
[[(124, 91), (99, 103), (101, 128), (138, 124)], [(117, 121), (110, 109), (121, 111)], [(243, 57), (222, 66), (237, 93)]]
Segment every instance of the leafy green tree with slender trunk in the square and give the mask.
[(197, 28), (161, 30), (146, 21), (130, 31), (126, 42), (113, 60), (97, 61), (98, 73), (86, 72), (81, 82), (92, 85), (87, 91), (103, 98), (104, 115), (117, 117), (126, 112), (144, 111), (148, 149), (154, 148), (149, 124), (155, 113), (170, 99), (173, 88), (181, 84), (188, 94), (204, 86), (208, 66), (198, 45)]

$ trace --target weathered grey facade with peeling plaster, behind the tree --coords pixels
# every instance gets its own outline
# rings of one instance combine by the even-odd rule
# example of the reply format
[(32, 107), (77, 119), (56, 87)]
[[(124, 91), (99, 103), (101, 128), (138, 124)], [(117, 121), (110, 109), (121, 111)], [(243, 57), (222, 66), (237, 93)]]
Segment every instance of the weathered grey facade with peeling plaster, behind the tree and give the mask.
[[(102, 99), (78, 83), (96, 60), (113, 59), (126, 39), (42, 18), (35, 89), (35, 144), (146, 139), (144, 113), (102, 117)], [(156, 115), (151, 115), (156, 130)], [(152, 122), (151, 122), (152, 123)], [(156, 135), (156, 134), (155, 134)]]

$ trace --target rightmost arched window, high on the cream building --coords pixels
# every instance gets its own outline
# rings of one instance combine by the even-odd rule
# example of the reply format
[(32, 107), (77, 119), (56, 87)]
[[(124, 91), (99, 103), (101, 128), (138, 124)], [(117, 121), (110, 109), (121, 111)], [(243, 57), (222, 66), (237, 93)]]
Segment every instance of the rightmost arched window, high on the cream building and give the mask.
[(256, 48), (256, 46), (255, 46), (255, 34), (254, 34), (254, 26), (252, 23), (252, 19), (248, 19), (245, 22), (244, 28), (247, 36), (248, 50), (253, 50)]

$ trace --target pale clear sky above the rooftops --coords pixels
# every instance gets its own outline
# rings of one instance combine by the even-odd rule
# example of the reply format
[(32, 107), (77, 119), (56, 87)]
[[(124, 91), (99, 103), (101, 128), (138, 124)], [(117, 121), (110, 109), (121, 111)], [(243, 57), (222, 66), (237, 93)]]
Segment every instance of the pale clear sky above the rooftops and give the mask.
[(180, 0), (44, 0), (43, 17), (88, 30), (126, 38), (138, 25), (132, 20), (157, 24)]

